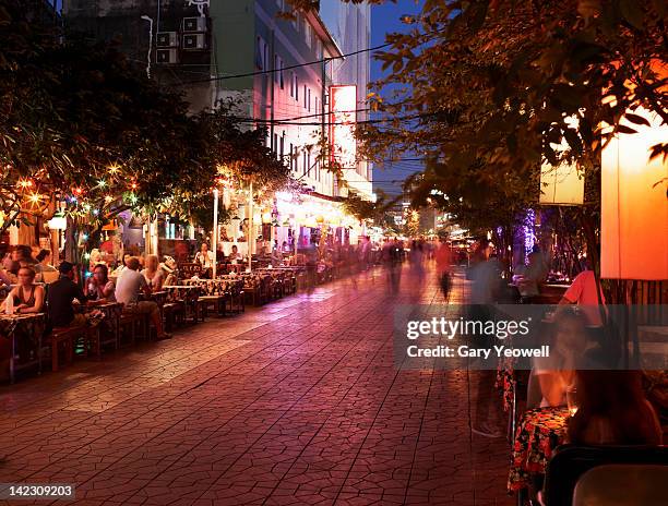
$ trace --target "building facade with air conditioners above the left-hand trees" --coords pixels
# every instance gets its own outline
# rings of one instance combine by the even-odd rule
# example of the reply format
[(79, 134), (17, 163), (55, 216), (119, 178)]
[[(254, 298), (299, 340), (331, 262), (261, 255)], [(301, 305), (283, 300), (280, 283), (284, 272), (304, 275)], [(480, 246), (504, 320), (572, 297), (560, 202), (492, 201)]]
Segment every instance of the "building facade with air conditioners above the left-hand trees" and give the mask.
[[(337, 201), (346, 184), (323, 164), (329, 156), (322, 150), (330, 129), (329, 91), (342, 79), (363, 95), (368, 65), (361, 65), (365, 74), (358, 79), (358, 63), (342, 60), (342, 50), (317, 10), (288, 19), (281, 15), (285, 9), (285, 0), (63, 0), (62, 4), (70, 28), (116, 40), (151, 79), (182, 89), (193, 112), (230, 100), (249, 128), (266, 128), (267, 146), (310, 190), (305, 198), (313, 201), (319, 212), (309, 218), (329, 210), (341, 215)], [(368, 38), (368, 29), (362, 34)], [(345, 40), (346, 32), (338, 36)], [(366, 164), (343, 172), (351, 185), (365, 190), (367, 184), (371, 194)], [(300, 244), (311, 242), (311, 227), (300, 227), (296, 216), (291, 219), (290, 237), (297, 229)], [(288, 230), (279, 229), (272, 239), (287, 238)]]

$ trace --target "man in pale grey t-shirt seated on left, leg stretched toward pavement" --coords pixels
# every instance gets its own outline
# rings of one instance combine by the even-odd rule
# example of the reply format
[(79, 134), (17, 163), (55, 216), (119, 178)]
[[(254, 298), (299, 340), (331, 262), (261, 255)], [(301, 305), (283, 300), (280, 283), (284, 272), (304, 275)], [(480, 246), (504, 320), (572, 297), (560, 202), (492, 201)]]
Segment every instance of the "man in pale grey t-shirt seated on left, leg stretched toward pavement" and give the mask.
[(155, 326), (158, 339), (171, 337), (163, 328), (163, 318), (158, 305), (153, 301), (139, 300), (140, 292), (151, 294), (146, 278), (139, 272), (139, 258), (132, 256), (126, 265), (127, 268), (120, 274), (116, 282), (116, 300), (124, 304), (123, 311), (147, 314)]

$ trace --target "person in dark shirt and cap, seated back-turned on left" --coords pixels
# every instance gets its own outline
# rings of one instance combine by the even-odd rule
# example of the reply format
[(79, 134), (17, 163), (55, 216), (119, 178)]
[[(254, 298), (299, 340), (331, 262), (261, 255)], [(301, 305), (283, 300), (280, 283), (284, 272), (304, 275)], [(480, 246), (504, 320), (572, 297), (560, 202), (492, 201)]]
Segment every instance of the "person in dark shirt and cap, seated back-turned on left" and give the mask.
[(82, 304), (86, 302), (86, 296), (79, 285), (74, 282), (74, 265), (62, 262), (58, 266), (60, 277), (49, 286), (47, 293), (48, 315), (53, 327), (67, 327), (69, 325), (83, 325), (86, 317), (83, 314), (74, 314), (72, 302), (76, 299)]

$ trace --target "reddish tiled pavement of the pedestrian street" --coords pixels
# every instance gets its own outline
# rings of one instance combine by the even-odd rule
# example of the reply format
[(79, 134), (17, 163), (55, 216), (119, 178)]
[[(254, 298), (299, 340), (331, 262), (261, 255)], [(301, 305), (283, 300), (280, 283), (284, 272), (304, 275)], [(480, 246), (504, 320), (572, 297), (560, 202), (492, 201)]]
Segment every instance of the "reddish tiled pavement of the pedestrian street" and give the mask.
[(375, 269), (2, 386), (0, 483), (75, 483), (86, 505), (513, 504), (466, 371), (393, 363), (393, 306), (442, 303), (431, 277), (405, 268), (392, 294)]

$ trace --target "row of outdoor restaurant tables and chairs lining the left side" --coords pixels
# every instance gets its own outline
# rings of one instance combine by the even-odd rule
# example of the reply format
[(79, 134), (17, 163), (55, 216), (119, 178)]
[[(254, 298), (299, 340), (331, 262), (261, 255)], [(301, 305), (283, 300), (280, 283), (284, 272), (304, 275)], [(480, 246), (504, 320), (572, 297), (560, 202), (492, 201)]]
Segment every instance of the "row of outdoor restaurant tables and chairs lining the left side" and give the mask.
[[(171, 332), (210, 318), (234, 317), (249, 305), (261, 306), (295, 294), (308, 284), (303, 266), (259, 267), (251, 273), (229, 267), (207, 279), (200, 277), (202, 269), (196, 264), (182, 264), (177, 284), (141, 297), (157, 303), (164, 326)], [(319, 277), (318, 284), (333, 279), (330, 273)], [(48, 290), (48, 284), (44, 287)], [(49, 328), (44, 313), (1, 314), (0, 339), (9, 348), (10, 359), (5, 377), (0, 377), (14, 383), (24, 372), (58, 371), (80, 358), (100, 359), (109, 351), (156, 338), (147, 314), (124, 312), (120, 303), (80, 305), (76, 311), (86, 315), (86, 325)]]

